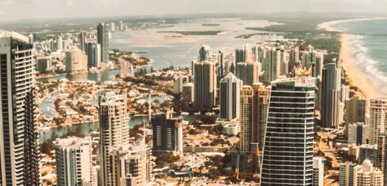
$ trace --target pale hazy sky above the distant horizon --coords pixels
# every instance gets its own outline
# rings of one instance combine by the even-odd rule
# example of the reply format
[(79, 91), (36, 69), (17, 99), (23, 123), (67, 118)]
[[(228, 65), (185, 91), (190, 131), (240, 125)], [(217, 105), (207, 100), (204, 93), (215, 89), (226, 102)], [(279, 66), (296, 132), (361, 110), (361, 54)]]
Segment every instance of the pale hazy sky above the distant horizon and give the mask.
[(0, 20), (220, 12), (386, 12), (387, 0), (0, 0)]

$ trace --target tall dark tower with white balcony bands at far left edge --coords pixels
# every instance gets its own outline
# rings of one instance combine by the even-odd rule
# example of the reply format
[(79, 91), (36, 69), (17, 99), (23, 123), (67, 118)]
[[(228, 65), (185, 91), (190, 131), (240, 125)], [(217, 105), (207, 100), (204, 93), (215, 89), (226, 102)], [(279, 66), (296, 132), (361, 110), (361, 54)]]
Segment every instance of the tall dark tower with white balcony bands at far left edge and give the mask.
[(28, 37), (0, 30), (0, 185), (40, 185), (35, 59)]

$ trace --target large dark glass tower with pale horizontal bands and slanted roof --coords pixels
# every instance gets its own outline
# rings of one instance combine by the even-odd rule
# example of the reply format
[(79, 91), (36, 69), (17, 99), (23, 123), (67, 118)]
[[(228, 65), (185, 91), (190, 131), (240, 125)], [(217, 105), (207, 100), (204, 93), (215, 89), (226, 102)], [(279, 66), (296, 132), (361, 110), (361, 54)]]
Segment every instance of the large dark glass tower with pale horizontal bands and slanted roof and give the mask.
[(314, 78), (272, 82), (261, 185), (312, 185)]

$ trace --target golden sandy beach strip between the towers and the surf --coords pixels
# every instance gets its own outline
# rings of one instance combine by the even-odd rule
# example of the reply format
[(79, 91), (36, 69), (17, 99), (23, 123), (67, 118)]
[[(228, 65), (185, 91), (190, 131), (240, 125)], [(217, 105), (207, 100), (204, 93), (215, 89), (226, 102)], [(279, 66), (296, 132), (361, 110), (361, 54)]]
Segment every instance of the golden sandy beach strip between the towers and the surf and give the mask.
[(376, 90), (370, 77), (364, 75), (364, 72), (355, 65), (356, 61), (350, 53), (350, 46), (348, 44), (350, 37), (352, 37), (352, 35), (341, 34), (340, 38), (340, 57), (343, 60), (341, 65), (343, 66), (343, 71), (346, 72), (347, 80), (350, 82), (350, 86), (357, 86), (357, 88), (360, 89), (359, 92), (361, 92), (364, 97), (368, 99), (380, 97), (381, 95), (379, 95), (379, 91)]

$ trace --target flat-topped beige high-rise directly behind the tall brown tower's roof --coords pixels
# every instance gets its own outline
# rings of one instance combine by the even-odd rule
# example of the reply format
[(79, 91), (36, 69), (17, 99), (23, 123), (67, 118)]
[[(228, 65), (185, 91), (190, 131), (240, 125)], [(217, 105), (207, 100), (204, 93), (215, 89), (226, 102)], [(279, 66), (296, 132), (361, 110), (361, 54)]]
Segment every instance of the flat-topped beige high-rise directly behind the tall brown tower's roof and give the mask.
[(239, 62), (236, 64), (236, 77), (242, 80), (243, 85), (252, 86), (259, 82), (259, 75), (261, 75), (261, 63)]

